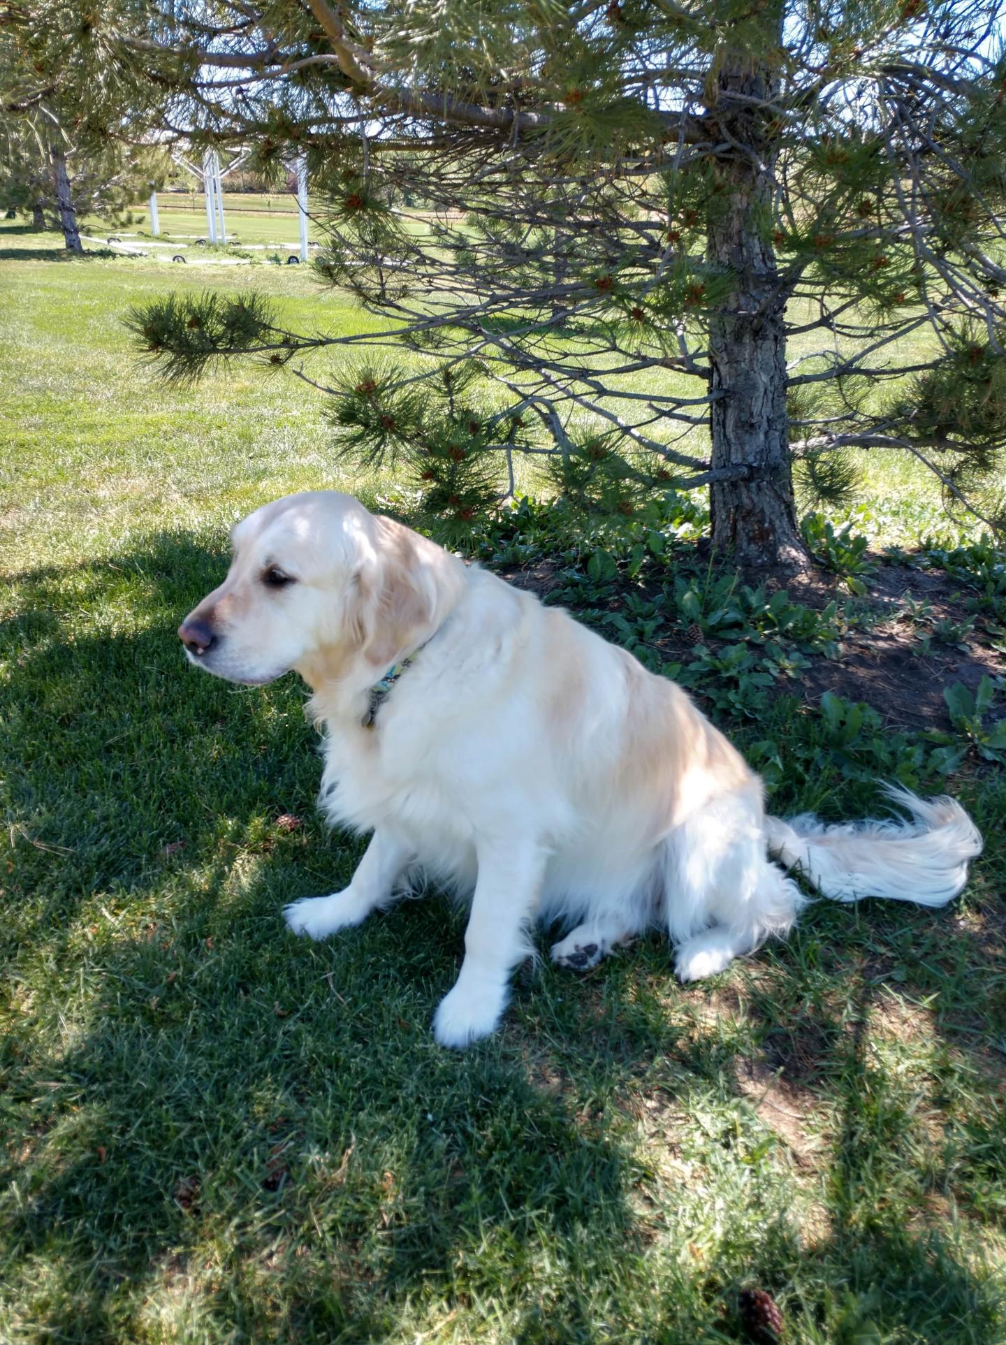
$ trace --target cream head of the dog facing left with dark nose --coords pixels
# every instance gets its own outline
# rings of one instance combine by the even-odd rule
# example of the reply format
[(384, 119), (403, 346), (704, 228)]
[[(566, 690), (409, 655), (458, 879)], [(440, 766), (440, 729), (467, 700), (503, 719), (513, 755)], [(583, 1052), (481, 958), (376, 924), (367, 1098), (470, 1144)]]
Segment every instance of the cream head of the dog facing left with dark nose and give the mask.
[(354, 664), (381, 675), (453, 605), (457, 562), (336, 491), (289, 495), (231, 533), (227, 577), (179, 627), (191, 663), (261, 686), (296, 668), (312, 686)]

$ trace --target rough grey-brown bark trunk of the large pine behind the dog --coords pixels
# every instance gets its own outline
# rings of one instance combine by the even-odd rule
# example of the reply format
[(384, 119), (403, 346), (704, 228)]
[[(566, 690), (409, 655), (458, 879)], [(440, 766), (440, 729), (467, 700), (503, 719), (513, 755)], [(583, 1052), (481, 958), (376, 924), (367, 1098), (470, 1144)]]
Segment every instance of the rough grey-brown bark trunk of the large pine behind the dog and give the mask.
[(750, 56), (728, 58), (720, 74), (720, 121), (738, 148), (720, 161), (724, 190), (710, 207), (706, 256), (736, 288), (709, 328), (710, 390), (722, 393), (710, 414), (711, 465), (744, 475), (711, 483), (713, 545), (742, 566), (806, 569), (787, 433), (785, 296), (769, 238), (775, 161), (757, 120), (764, 113), (752, 104), (736, 110), (729, 94), (771, 98), (772, 79)]

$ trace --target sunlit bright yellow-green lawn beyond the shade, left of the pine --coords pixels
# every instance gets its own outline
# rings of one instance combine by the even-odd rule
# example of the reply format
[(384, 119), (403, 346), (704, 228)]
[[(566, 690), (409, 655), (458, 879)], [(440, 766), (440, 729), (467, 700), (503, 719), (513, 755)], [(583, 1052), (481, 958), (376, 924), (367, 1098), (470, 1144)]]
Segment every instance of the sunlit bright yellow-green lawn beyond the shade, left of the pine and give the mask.
[[(31, 234), (12, 241), (36, 246)], [(307, 383), (246, 366), (195, 389), (165, 387), (136, 354), (122, 324), (132, 304), (168, 288), (200, 292), (207, 274), (214, 288), (242, 292), (247, 269), (66, 262), (48, 242), (51, 260), (17, 264), (8, 250), (0, 261), (3, 472), (22, 547), (34, 538), (58, 550), (101, 547), (152, 523), (221, 523), (272, 495), (355, 484), (336, 461), (324, 397)], [(307, 268), (256, 268), (254, 284), (308, 327), (374, 325), (323, 293)]]

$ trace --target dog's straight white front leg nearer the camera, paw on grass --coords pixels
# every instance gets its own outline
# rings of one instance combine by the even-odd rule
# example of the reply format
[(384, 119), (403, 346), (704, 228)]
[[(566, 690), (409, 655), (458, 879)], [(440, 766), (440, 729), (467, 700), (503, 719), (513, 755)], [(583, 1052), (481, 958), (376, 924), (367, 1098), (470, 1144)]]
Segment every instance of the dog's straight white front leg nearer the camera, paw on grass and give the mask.
[(545, 854), (527, 841), (477, 846), (479, 877), (464, 935), (464, 962), (433, 1018), (441, 1046), (488, 1037), (510, 993), (510, 972), (531, 951), (526, 927), (538, 901)]

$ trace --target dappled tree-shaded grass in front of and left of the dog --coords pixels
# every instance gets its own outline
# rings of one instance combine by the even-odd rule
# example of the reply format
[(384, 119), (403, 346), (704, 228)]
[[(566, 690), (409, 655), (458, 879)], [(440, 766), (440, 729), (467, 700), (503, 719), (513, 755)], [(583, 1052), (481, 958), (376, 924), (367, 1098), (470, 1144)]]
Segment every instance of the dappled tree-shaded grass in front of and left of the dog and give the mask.
[[(822, 905), (787, 948), (687, 989), (644, 942), (584, 979), (523, 975), (494, 1041), (441, 1050), (461, 912), (406, 902), (319, 946), (281, 924), (359, 847), (316, 819), (297, 689), (235, 693), (180, 660), (179, 616), (222, 565), (165, 535), (27, 576), (4, 632), (23, 831), (0, 1200), (22, 1338), (464, 1338), (496, 1313), (527, 1342), (729, 1340), (742, 1283), (780, 1297), (794, 1338), (833, 1338), (814, 1333), (842, 1313), (991, 1338), (991, 1282), (906, 1184), (936, 1149), (906, 1161), (913, 1095), (867, 1032), (884, 987), (924, 997), (931, 976), (956, 1021), (968, 968), (991, 974), (982, 932)], [(923, 974), (911, 947), (954, 966)], [(756, 1057), (827, 1114), (803, 1174), (816, 1240), (787, 1217)]]

